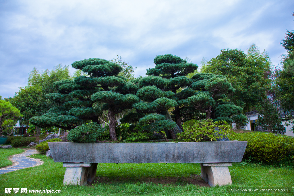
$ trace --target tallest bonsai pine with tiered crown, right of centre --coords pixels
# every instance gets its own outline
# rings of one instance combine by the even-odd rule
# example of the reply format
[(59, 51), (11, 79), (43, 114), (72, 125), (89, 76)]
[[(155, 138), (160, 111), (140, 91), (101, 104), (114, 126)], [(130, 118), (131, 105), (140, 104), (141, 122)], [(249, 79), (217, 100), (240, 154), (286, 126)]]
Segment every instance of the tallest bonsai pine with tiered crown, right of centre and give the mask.
[[(198, 66), (193, 63), (187, 63), (186, 60), (171, 54), (158, 55), (154, 58), (155, 68), (147, 69), (146, 75), (157, 76), (166, 79), (163, 85), (161, 82), (152, 80), (149, 85), (155, 85), (163, 91), (171, 91), (174, 93), (173, 99), (177, 105), (174, 106), (173, 116), (176, 124), (183, 130), (181, 124), (181, 110), (189, 107), (190, 103), (187, 98), (194, 95), (191, 87), (192, 80), (186, 76), (197, 70)], [(153, 77), (154, 78), (154, 77)], [(180, 88), (184, 90), (179, 91)], [(171, 119), (170, 114), (166, 111), (166, 115)]]

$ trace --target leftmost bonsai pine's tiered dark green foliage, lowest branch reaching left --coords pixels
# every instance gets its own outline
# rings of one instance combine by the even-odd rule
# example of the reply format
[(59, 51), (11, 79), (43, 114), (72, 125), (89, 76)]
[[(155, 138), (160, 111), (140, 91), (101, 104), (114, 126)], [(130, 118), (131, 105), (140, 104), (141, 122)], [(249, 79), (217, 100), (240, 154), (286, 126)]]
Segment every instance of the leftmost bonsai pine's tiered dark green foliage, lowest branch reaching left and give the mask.
[(47, 98), (57, 106), (44, 115), (31, 118), (31, 124), (71, 130), (88, 120), (99, 123), (101, 110), (93, 108), (91, 95), (100, 89), (95, 87), (90, 77), (79, 76), (74, 81), (60, 80), (54, 83), (54, 87), (58, 93), (49, 93)]

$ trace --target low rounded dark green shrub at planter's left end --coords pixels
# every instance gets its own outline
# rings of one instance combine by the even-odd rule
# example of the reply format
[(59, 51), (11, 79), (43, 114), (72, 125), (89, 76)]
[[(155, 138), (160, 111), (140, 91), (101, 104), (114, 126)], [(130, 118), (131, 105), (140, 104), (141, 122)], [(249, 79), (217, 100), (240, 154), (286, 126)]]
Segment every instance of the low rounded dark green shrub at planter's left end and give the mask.
[(106, 129), (102, 128), (96, 122), (82, 124), (72, 129), (67, 135), (67, 139), (81, 143), (96, 142), (96, 138), (105, 131)]

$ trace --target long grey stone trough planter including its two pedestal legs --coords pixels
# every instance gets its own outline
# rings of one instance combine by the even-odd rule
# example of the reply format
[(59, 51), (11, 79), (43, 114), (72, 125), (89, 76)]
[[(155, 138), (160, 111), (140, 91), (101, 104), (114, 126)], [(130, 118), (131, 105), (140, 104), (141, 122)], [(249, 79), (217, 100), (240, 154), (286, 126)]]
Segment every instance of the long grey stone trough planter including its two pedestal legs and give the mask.
[(54, 162), (66, 167), (64, 185), (86, 185), (98, 163), (201, 163), (210, 186), (232, 184), (228, 166), (241, 162), (246, 141), (179, 143), (48, 143)]

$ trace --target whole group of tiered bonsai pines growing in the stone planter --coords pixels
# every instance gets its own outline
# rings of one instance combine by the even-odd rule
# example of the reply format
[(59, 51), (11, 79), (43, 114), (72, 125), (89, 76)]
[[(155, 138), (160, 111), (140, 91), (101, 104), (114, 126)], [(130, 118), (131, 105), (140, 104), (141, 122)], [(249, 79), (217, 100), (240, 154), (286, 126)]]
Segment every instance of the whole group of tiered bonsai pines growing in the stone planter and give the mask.
[[(99, 58), (75, 61), (72, 66), (87, 75), (56, 81), (56, 92), (47, 94), (54, 107), (30, 122), (41, 127), (75, 128), (76, 133), (72, 133), (75, 140), (78, 141), (76, 135), (84, 135), (91, 138), (85, 139), (89, 142), (94, 141), (96, 132), (88, 134), (86, 128), (99, 126), (102, 111), (107, 111), (111, 140), (118, 140), (116, 114), (128, 109), (133, 111), (124, 115), (121, 123), (132, 123), (143, 132), (160, 133), (166, 140), (164, 132), (175, 139), (175, 134), (182, 132), (181, 122), (202, 119), (203, 113), (207, 119), (228, 122), (244, 117), (240, 115), (242, 108), (226, 98), (235, 89), (225, 76), (197, 73), (188, 78), (198, 66), (171, 54), (156, 56), (154, 63), (155, 68), (147, 69), (148, 76), (130, 80), (119, 75), (122, 68), (116, 61)], [(173, 110), (175, 122), (168, 110)], [(91, 121), (94, 124), (76, 128)]]

